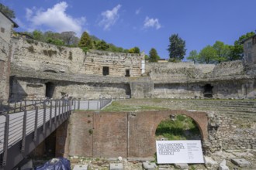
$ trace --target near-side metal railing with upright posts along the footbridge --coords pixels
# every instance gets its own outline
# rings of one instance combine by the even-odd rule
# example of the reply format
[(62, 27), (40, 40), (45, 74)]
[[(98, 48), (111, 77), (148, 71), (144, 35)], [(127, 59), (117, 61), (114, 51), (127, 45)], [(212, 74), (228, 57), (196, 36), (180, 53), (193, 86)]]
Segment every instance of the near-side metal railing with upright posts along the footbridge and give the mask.
[[(0, 112), (0, 165), (5, 167), (9, 148), (20, 143), (20, 152), (26, 148), (26, 136), (33, 134), (33, 141), (38, 141), (40, 134), (48, 129), (56, 129), (57, 122), (67, 120), (71, 110), (75, 109), (76, 100), (43, 100), (33, 104), (1, 110)], [(53, 128), (53, 124), (55, 127)], [(59, 125), (59, 124), (58, 124)], [(42, 128), (43, 131), (38, 131)], [(44, 135), (45, 136), (45, 135)], [(28, 141), (29, 142), (29, 141)]]

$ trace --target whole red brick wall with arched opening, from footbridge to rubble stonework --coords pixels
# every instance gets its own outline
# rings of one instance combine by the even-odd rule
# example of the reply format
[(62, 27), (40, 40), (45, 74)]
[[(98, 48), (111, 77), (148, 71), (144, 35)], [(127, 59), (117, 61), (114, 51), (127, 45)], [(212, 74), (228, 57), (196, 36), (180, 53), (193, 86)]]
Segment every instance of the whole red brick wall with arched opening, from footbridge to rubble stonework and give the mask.
[[(57, 155), (85, 157), (147, 158), (156, 152), (155, 131), (158, 124), (173, 114), (191, 117), (208, 139), (208, 117), (205, 112), (188, 110), (142, 112), (74, 112), (68, 126), (57, 131), (57, 138), (67, 135), (65, 145), (58, 144)], [(68, 131), (68, 133), (67, 133)], [(62, 149), (60, 149), (62, 148)]]

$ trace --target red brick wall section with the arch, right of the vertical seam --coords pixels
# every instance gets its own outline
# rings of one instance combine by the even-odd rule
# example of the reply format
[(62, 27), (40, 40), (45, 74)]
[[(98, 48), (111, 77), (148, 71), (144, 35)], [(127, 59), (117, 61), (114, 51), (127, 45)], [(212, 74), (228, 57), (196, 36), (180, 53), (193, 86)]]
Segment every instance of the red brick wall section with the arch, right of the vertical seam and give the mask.
[(157, 126), (171, 114), (183, 114), (198, 124), (202, 141), (208, 139), (208, 117), (205, 112), (189, 110), (143, 111), (129, 116), (128, 157), (152, 157), (156, 152), (155, 131)]

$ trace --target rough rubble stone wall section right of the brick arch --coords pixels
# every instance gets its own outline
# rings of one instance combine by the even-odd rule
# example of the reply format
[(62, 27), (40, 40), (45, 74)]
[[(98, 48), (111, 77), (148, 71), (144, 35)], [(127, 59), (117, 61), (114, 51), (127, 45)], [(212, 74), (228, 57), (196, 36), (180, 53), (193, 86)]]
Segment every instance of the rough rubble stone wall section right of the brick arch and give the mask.
[(251, 119), (230, 117), (209, 113), (209, 141), (207, 151), (244, 150), (256, 148), (256, 124), (254, 115)]

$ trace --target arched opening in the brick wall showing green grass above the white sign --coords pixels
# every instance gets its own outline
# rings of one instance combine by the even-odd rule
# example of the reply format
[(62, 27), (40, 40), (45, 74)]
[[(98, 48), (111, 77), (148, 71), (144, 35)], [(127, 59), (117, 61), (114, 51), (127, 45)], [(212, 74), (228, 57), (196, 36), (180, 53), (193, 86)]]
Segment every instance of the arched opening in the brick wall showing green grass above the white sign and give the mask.
[(156, 140), (201, 140), (198, 124), (183, 114), (171, 114), (158, 124), (155, 132)]

